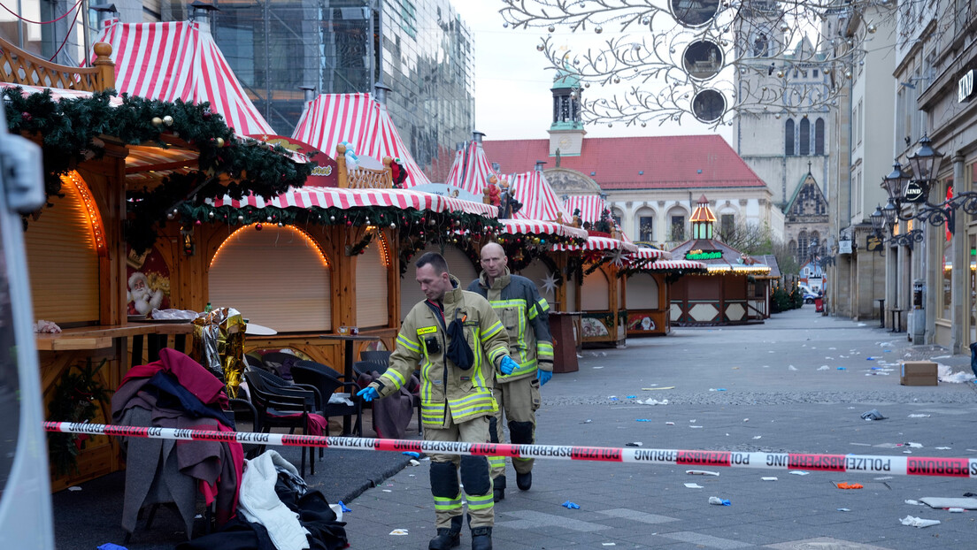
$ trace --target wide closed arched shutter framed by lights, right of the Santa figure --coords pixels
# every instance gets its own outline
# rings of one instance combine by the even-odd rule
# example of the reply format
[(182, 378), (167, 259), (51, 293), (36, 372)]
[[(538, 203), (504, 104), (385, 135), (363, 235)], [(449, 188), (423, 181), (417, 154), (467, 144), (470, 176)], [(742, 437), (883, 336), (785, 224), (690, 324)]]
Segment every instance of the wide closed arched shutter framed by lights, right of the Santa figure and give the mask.
[(210, 265), (208, 301), (278, 332), (332, 328), (332, 284), (319, 249), (287, 226), (231, 235)]

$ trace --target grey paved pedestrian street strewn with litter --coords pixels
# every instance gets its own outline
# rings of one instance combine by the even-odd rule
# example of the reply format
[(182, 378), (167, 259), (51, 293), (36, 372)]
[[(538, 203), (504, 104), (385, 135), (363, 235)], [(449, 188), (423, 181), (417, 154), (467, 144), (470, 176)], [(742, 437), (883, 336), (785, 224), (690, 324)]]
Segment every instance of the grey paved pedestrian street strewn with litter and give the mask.
[[(973, 383), (899, 384), (904, 359), (970, 371), (946, 354), (811, 306), (762, 325), (677, 328), (626, 349), (584, 350), (578, 372), (543, 388), (537, 443), (977, 457)], [(871, 409), (886, 419), (864, 420)], [(496, 504), (494, 547), (916, 550), (977, 540), (977, 510), (906, 503), (977, 492), (970, 479), (795, 471), (537, 459), (531, 490), (511, 484)], [(353, 548), (427, 548), (435, 534), (427, 461), (347, 504)], [(908, 527), (907, 517), (940, 524)], [(469, 544), (463, 529), (461, 548)]]

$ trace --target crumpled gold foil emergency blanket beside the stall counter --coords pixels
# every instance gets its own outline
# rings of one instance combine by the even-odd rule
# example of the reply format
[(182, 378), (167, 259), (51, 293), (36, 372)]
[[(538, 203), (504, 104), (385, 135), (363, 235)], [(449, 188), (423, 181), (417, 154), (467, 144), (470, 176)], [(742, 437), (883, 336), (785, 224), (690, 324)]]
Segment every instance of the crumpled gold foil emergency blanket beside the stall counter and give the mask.
[(234, 308), (217, 308), (193, 320), (194, 357), (224, 381), (228, 397), (237, 397), (244, 372), (244, 317)]

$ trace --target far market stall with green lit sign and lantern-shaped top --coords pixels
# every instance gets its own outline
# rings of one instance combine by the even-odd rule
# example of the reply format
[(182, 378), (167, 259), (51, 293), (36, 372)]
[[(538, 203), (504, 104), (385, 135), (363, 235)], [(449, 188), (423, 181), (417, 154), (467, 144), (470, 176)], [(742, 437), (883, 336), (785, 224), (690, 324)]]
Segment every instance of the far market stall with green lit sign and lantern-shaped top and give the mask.
[(769, 317), (770, 267), (713, 238), (715, 216), (702, 195), (693, 212), (693, 238), (671, 252), (676, 259), (701, 262), (703, 275), (671, 284), (672, 324), (717, 325), (763, 322)]

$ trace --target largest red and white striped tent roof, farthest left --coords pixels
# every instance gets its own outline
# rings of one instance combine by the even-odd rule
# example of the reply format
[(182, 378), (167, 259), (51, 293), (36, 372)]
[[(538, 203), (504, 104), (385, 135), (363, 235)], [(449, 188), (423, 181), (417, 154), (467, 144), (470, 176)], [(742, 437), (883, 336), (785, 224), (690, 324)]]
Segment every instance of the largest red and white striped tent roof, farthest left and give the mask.
[(193, 21), (107, 21), (115, 89), (152, 100), (210, 102), (238, 136), (275, 134), (251, 103), (210, 31)]

